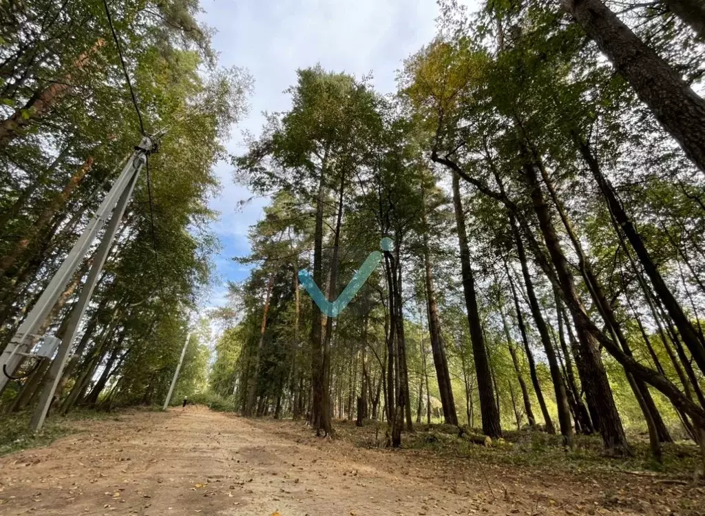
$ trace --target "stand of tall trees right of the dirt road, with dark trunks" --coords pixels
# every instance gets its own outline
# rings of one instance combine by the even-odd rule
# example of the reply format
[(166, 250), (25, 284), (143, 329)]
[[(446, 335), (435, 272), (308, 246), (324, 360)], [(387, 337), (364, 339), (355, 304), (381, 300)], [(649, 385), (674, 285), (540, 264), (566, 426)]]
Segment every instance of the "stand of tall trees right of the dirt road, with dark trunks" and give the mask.
[[(299, 70), (232, 158), (271, 204), (214, 313), (210, 388), (321, 436), (386, 421), (391, 447), (444, 423), (702, 448), (705, 18), (611, 4), (443, 1), (393, 95)], [(321, 314), (298, 271), (333, 300), (382, 236)]]

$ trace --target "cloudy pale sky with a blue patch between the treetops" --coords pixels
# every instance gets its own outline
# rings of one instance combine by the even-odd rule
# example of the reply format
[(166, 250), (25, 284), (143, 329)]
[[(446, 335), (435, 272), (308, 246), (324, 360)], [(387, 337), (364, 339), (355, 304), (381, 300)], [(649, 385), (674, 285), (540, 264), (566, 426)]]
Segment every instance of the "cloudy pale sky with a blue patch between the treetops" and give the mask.
[[(318, 63), (326, 70), (357, 77), (373, 74), (381, 93), (396, 90), (401, 61), (417, 52), (435, 34), (439, 14), (435, 0), (202, 0), (200, 20), (216, 30), (213, 46), (221, 66), (247, 68), (255, 79), (250, 112), (233, 128), (228, 152), (245, 151), (242, 132), (259, 135), (262, 112), (290, 107), (284, 90), (296, 70)], [(216, 167), (222, 192), (210, 206), (221, 213), (212, 224), (223, 249), (214, 260), (222, 284), (216, 285), (207, 307), (225, 302), (225, 281), (240, 281), (247, 268), (233, 261), (250, 251), (247, 229), (262, 217), (266, 198), (241, 200), (252, 193), (233, 183), (232, 167)]]

